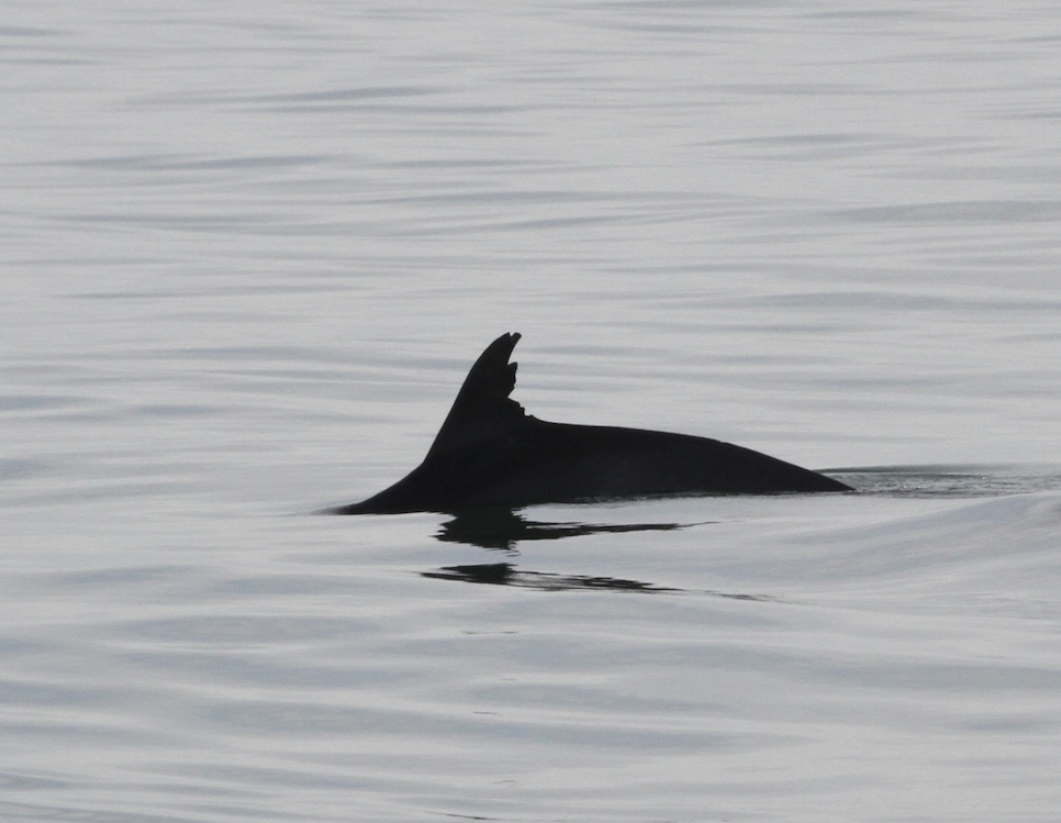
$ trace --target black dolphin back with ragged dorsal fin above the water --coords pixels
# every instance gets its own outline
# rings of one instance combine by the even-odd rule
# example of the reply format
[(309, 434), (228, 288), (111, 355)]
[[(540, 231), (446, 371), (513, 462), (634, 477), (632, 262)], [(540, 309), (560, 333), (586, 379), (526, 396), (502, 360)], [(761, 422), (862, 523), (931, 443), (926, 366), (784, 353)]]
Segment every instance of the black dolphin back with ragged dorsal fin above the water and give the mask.
[(458, 512), (662, 494), (850, 491), (825, 475), (750, 448), (688, 434), (549, 423), (509, 394), (518, 334), (471, 367), (424, 461), (393, 486), (334, 514)]

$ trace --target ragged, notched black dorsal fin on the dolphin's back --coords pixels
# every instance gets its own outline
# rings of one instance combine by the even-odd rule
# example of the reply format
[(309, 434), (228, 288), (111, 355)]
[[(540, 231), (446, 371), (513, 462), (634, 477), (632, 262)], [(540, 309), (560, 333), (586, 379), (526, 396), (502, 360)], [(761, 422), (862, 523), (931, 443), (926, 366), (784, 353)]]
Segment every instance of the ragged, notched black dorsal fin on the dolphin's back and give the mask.
[(524, 419), (523, 407), (509, 397), (516, 385), (517, 366), (509, 358), (518, 342), (518, 332), (502, 334), (479, 355), (425, 459), (500, 436)]

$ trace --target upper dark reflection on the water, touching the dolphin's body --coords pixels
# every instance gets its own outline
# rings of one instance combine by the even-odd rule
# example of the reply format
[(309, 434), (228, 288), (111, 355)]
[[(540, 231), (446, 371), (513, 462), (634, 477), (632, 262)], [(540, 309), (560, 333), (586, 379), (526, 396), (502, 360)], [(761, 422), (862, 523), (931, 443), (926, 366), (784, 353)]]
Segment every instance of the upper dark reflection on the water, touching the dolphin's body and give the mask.
[(602, 532), (671, 532), (699, 523), (578, 523), (527, 520), (512, 509), (473, 509), (442, 524), (435, 537), (444, 543), (467, 543), (482, 548), (512, 550), (521, 541), (558, 541)]

